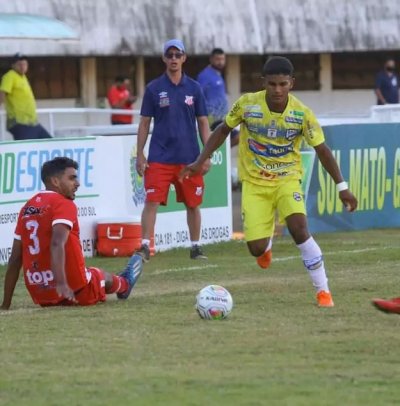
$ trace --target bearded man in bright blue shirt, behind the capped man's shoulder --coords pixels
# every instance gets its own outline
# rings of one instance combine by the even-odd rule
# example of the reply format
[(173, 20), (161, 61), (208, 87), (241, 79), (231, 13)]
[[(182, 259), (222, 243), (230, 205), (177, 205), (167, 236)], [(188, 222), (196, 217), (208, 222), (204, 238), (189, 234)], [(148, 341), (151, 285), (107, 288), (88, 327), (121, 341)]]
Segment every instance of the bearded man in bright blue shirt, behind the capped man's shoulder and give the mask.
[(228, 113), (228, 98), (222, 72), (226, 57), (221, 48), (214, 48), (210, 55), (210, 64), (197, 76), (206, 98), (208, 121), (210, 125), (223, 120)]

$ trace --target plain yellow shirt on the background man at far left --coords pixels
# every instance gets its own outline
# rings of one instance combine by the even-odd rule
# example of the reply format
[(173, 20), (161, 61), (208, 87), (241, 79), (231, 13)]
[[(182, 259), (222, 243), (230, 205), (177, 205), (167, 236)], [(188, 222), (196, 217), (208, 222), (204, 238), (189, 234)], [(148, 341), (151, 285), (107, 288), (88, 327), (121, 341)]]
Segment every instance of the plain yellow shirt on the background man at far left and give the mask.
[(25, 75), (9, 70), (1, 79), (0, 90), (6, 94), (7, 128), (37, 124), (35, 97)]

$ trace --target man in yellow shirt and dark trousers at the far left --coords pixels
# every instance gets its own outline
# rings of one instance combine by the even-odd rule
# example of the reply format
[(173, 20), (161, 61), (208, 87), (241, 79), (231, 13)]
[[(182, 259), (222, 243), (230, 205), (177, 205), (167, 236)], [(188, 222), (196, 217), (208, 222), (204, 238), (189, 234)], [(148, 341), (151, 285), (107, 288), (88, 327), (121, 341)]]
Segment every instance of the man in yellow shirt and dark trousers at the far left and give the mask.
[(0, 104), (5, 103), (7, 130), (14, 140), (51, 138), (38, 123), (36, 102), (26, 72), (28, 60), (25, 55), (15, 54), (11, 69), (2, 77)]

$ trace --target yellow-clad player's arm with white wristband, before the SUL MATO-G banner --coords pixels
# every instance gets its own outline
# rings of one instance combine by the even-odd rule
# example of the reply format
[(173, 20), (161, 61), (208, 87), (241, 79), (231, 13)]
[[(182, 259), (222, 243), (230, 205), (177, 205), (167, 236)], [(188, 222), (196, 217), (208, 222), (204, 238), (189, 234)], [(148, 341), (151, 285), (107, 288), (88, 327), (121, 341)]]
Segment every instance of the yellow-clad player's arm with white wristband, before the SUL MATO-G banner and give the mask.
[(340, 168), (332, 154), (330, 148), (322, 143), (314, 147), (322, 166), (331, 175), (332, 179), (338, 186), (339, 198), (346, 207), (347, 211), (354, 211), (357, 208), (357, 199), (348, 189), (347, 183), (344, 181)]

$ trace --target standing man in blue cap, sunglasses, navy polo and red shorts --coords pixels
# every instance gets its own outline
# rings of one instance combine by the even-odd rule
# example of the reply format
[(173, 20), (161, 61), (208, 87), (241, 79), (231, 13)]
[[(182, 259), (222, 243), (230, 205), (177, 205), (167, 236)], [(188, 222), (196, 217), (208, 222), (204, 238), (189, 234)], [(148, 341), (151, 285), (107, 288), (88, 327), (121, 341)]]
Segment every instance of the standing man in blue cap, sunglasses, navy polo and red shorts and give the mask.
[[(210, 135), (206, 102), (200, 85), (182, 71), (186, 53), (181, 40), (172, 39), (164, 44), (162, 60), (166, 71), (146, 86), (140, 111), (136, 169), (144, 176), (146, 201), (142, 212), (142, 246), (138, 253), (144, 261), (150, 259), (149, 244), (157, 209), (160, 204), (167, 204), (169, 188), (173, 184), (177, 201), (183, 202), (187, 210), (192, 242), (190, 258), (207, 259), (199, 244), (199, 206), (204, 193), (203, 175), (210, 167), (210, 160), (202, 174), (179, 181), (181, 169), (200, 153), (196, 122), (203, 144)], [(144, 147), (152, 118), (154, 126), (146, 159)]]

